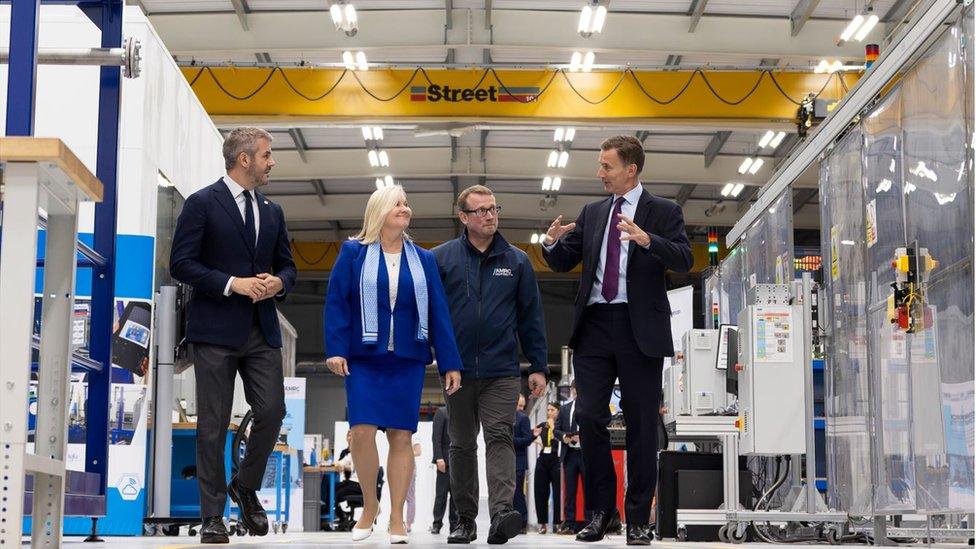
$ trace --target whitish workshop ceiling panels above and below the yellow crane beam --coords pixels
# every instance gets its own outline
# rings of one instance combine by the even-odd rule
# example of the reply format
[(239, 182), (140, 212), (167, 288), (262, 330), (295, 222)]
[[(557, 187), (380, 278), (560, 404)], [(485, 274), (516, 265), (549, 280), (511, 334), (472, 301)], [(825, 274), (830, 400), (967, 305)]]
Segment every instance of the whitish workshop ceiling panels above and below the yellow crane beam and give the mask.
[[(836, 45), (845, 20), (869, 2), (882, 19), (901, 15), (913, 0), (812, 0), (815, 9), (797, 36), (790, 14), (809, 0), (611, 0), (604, 32), (584, 39), (576, 33), (582, 1), (570, 0), (354, 0), (359, 32), (336, 31), (329, 0), (141, 0), (166, 46), (179, 62), (335, 63), (344, 49), (366, 51), (371, 63), (437, 66), (448, 60), (481, 65), (561, 64), (572, 51), (592, 49), (597, 64), (639, 67), (696, 66), (810, 67), (824, 57), (857, 61), (863, 46)], [(700, 20), (691, 14), (706, 2)], [(235, 4), (241, 10), (235, 12)], [(486, 4), (491, 11), (486, 12)], [(446, 6), (452, 6), (449, 12)], [(491, 30), (487, 30), (489, 26)], [(450, 24), (451, 28), (447, 28)], [(694, 31), (690, 29), (694, 26)], [(246, 27), (246, 29), (245, 29)], [(882, 42), (889, 30), (880, 24), (868, 41)], [(217, 117), (222, 129), (252, 120)], [(731, 226), (756, 190), (796, 143), (795, 129), (776, 153), (768, 153), (756, 175), (736, 169), (757, 150), (765, 127), (715, 122), (702, 127), (655, 124), (631, 127), (576, 126), (570, 162), (560, 170), (562, 189), (554, 205), (540, 208), (540, 182), (554, 175), (546, 168), (552, 149), (551, 125), (511, 126), (475, 123), (388, 124), (383, 149), (390, 168), (373, 169), (360, 127), (345, 123), (267, 125), (274, 135), (278, 166), (268, 193), (285, 209), (301, 239), (333, 239), (357, 228), (374, 179), (391, 174), (411, 193), (418, 238), (452, 236), (453, 193), (485, 183), (504, 205), (503, 228), (527, 241), (558, 214), (575, 217), (582, 205), (602, 196), (595, 178), (599, 144), (625, 133), (644, 139), (643, 180), (651, 192), (681, 199), (690, 227)], [(448, 134), (458, 136), (454, 139)], [(706, 167), (705, 151), (731, 132)], [(417, 134), (420, 134), (418, 136)], [(484, 146), (482, 146), (482, 142)], [(768, 149), (767, 149), (768, 151)], [(817, 174), (797, 182), (796, 226), (817, 228)], [(746, 183), (738, 201), (706, 215), (729, 181)], [(693, 231), (695, 232), (695, 231)]]

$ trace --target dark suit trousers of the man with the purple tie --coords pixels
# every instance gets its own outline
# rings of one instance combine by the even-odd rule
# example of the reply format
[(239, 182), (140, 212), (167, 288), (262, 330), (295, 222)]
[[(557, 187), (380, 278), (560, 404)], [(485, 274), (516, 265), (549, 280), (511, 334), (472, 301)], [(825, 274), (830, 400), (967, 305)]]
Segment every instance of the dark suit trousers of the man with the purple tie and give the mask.
[(664, 359), (641, 353), (627, 305), (591, 305), (580, 326), (573, 362), (576, 420), (593, 510), (616, 507), (617, 474), (610, 456), (610, 394), (620, 378), (620, 408), (627, 423), (627, 524), (647, 524), (657, 484), (657, 422)]

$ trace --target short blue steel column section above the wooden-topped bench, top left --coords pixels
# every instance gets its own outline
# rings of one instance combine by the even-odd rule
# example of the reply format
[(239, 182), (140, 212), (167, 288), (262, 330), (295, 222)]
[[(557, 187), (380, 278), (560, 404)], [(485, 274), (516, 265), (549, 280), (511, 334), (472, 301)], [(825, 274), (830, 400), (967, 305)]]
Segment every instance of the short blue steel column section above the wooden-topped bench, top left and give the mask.
[(10, 60), (7, 68), (6, 135), (34, 135), (37, 88), (37, 24), (40, 0), (13, 0), (10, 8)]

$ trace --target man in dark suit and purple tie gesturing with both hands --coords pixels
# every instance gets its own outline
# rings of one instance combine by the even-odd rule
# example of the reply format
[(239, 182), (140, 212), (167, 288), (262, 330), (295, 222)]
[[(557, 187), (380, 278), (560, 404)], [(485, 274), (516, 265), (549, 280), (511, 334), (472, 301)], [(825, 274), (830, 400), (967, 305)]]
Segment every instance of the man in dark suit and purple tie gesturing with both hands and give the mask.
[(632, 136), (600, 145), (597, 176), (611, 196), (583, 207), (575, 223), (556, 218), (544, 257), (557, 272), (583, 262), (573, 334), (579, 423), (590, 524), (576, 536), (599, 541), (615, 522), (616, 474), (610, 457), (610, 394), (620, 379), (627, 424), (627, 544), (649, 545), (648, 518), (657, 483), (661, 367), (673, 356), (665, 271), (688, 272), (691, 244), (681, 207), (647, 192), (638, 180), (644, 147)]

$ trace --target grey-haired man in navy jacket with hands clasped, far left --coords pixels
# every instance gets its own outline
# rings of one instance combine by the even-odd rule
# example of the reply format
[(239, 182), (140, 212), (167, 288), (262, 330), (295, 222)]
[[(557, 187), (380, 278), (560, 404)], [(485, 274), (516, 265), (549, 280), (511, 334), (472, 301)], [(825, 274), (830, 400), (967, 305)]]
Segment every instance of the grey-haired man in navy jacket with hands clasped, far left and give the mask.
[[(229, 542), (222, 521), (228, 494), (251, 532), (268, 533), (255, 490), (285, 417), (281, 330), (269, 298), (283, 298), (296, 275), (281, 207), (257, 192), (275, 165), (271, 134), (237, 128), (223, 155), (227, 175), (187, 198), (170, 256), (173, 277), (193, 288), (186, 331), (196, 375), (202, 543)], [(225, 485), (224, 441), (238, 373), (254, 423), (240, 470)]]

